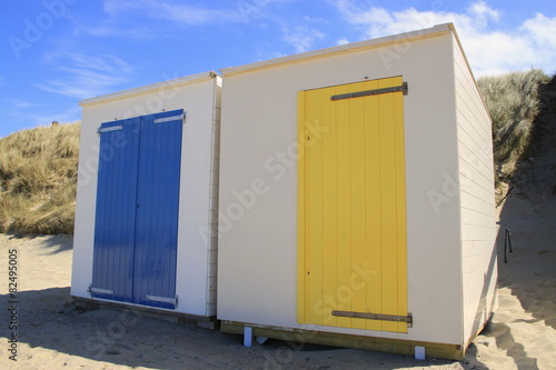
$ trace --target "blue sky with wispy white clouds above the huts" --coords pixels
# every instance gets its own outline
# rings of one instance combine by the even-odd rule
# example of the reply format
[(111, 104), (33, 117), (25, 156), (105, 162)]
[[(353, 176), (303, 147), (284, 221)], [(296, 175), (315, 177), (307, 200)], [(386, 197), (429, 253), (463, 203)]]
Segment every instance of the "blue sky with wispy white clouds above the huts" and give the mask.
[(170, 78), (455, 22), (476, 77), (556, 72), (554, 0), (3, 1), (0, 137)]

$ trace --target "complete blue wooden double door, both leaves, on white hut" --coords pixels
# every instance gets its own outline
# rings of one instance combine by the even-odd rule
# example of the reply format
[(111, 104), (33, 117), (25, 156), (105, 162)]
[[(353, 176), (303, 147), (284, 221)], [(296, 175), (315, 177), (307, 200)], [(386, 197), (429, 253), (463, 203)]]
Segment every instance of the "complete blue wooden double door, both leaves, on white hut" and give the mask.
[(182, 110), (102, 123), (91, 296), (175, 308)]

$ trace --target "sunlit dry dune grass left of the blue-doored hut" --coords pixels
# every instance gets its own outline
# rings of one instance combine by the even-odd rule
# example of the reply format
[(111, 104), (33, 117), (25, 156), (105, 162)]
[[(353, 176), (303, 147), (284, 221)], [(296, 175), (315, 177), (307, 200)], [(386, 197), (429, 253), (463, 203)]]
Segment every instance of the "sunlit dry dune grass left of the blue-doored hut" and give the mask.
[(72, 233), (80, 123), (0, 139), (0, 232)]

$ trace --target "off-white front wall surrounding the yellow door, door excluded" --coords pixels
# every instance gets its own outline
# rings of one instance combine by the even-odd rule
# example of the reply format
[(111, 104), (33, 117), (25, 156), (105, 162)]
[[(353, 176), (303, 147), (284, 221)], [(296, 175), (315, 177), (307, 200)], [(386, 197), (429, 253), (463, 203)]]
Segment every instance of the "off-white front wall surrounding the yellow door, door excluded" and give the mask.
[[(403, 52), (400, 52), (403, 50)], [(435, 208), (456, 173), (453, 39), (446, 31), (380, 49), (347, 50), (234, 73), (224, 70), (218, 318), (363, 336), (461, 344), (459, 200)], [(390, 333), (300, 326), (297, 291), (297, 164), (284, 177), (265, 162), (297, 141), (297, 92), (404, 77), (408, 308), (414, 328)], [(286, 154), (287, 156), (287, 154)], [(291, 157), (287, 157), (291, 158)], [(276, 161), (275, 161), (276, 163)], [(264, 194), (252, 194), (264, 181)], [(255, 199), (255, 201), (252, 199)]]

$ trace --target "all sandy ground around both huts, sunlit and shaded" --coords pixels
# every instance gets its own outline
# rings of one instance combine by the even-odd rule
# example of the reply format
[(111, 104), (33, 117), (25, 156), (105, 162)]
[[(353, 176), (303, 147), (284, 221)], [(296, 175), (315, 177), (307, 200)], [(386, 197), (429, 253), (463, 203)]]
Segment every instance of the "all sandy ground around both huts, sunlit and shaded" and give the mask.
[[(556, 198), (556, 197), (554, 197)], [(544, 204), (544, 206), (543, 206)], [(9, 338), (9, 251), (17, 250), (17, 362), (0, 346), (0, 369), (556, 369), (554, 214), (519, 189), (500, 213), (514, 252), (499, 260), (499, 309), (464, 361), (427, 359), (270, 340), (242, 347), (239, 336), (113, 309), (79, 312), (71, 304), (72, 240), (0, 234), (2, 310)], [(545, 207), (546, 206), (546, 207)], [(502, 246), (504, 244), (502, 240)]]

